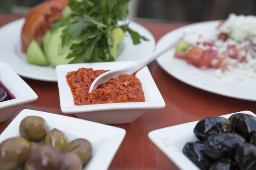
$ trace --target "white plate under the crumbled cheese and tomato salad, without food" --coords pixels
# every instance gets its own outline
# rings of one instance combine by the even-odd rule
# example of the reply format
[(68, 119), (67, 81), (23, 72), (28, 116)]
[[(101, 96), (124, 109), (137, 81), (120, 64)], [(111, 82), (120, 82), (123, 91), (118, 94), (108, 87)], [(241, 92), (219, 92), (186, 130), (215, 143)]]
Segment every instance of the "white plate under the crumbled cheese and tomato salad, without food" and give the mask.
[[(196, 23), (189, 26), (178, 28), (163, 36), (157, 43), (157, 48), (169, 43), (175, 34), (182, 31), (197, 33), (198, 31), (210, 31), (218, 26), (219, 21), (210, 21)], [(215, 94), (229, 96), (237, 99), (245, 99), (256, 101), (256, 73), (248, 75), (247, 72), (235, 71), (233, 74), (227, 75), (219, 79), (215, 75), (214, 69), (199, 69), (186, 63), (186, 61), (174, 58), (175, 50), (171, 50), (157, 59), (158, 64), (168, 74), (176, 79), (185, 82), (205, 91)], [(250, 77), (251, 76), (251, 77)], [(255, 76), (255, 78), (252, 78)], [(241, 81), (241, 78), (243, 79)]]

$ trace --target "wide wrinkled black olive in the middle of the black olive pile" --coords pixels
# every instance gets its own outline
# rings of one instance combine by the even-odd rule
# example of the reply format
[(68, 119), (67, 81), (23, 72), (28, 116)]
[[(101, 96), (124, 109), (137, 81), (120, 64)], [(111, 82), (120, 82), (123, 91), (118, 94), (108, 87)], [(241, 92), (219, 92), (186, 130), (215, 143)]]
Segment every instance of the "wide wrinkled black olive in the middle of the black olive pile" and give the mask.
[(204, 153), (211, 159), (232, 156), (237, 146), (244, 145), (245, 139), (236, 133), (222, 133), (209, 136), (205, 141)]

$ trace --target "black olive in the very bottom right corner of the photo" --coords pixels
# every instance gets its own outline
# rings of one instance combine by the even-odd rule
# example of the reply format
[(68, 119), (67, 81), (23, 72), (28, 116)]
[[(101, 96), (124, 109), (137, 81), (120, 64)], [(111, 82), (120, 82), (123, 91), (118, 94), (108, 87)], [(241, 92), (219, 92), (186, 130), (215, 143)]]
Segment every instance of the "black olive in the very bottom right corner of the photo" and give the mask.
[(249, 143), (237, 147), (235, 160), (240, 170), (256, 170), (256, 147)]

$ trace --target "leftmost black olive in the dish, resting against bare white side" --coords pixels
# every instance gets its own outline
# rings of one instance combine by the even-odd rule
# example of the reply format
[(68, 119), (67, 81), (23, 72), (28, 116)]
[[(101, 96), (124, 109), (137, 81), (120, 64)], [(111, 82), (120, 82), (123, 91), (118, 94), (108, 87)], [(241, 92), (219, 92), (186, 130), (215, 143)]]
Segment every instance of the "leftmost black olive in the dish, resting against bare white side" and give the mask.
[(183, 147), (183, 153), (201, 170), (208, 170), (211, 162), (206, 156), (203, 155), (204, 148), (204, 143), (188, 142)]

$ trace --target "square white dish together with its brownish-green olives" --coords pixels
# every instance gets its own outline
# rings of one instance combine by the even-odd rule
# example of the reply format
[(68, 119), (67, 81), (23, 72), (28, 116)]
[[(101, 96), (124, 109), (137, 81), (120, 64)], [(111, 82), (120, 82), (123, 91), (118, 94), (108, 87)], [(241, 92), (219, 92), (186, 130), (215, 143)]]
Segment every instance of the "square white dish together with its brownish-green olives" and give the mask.
[(0, 170), (107, 170), (124, 136), (118, 127), (23, 110), (0, 135)]

